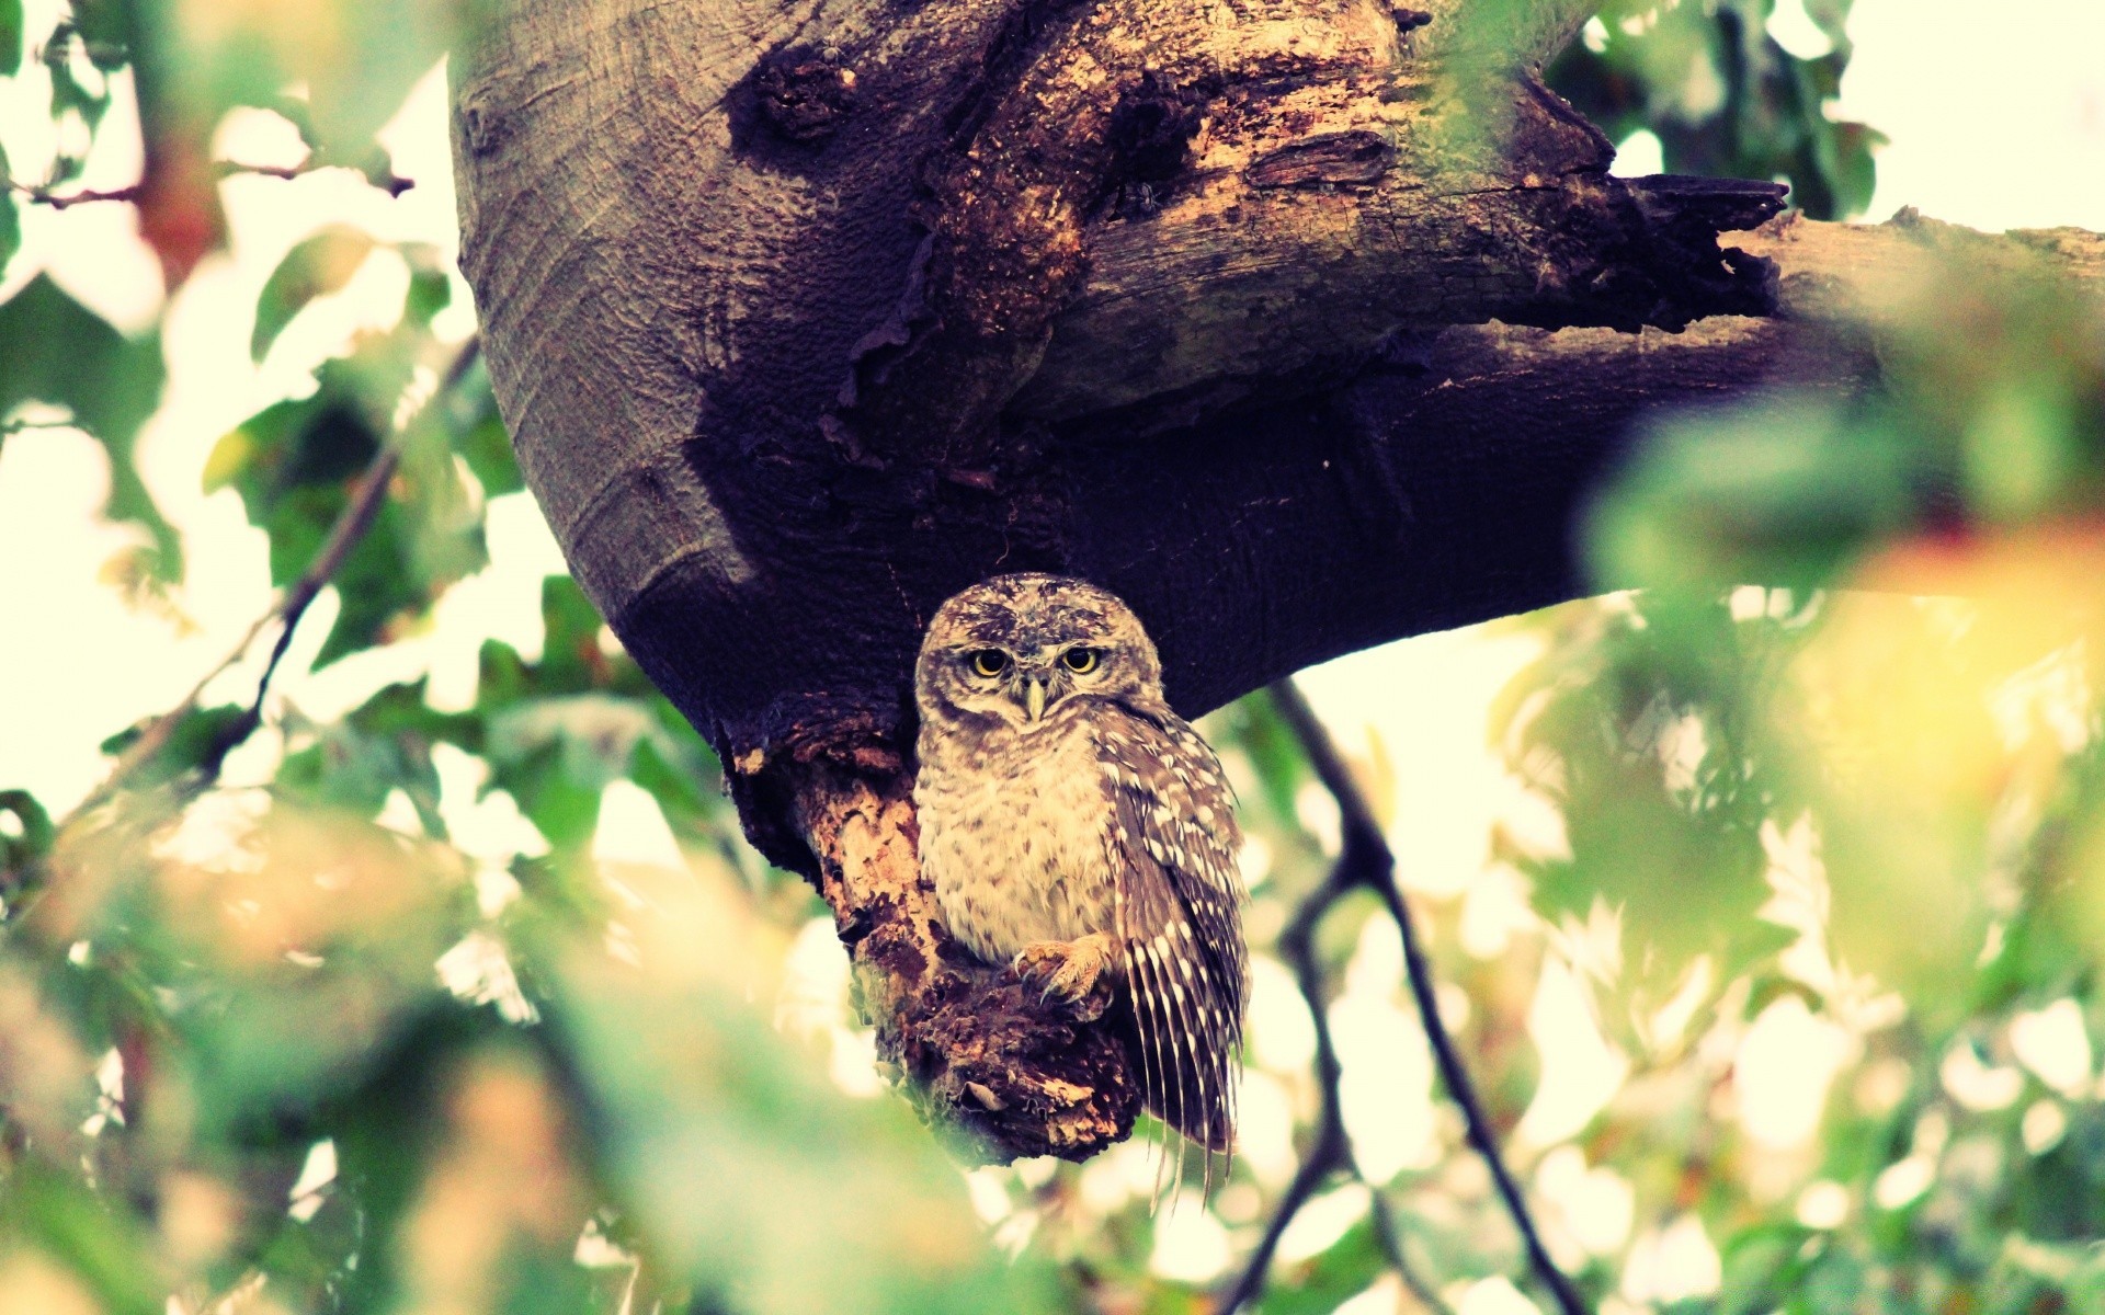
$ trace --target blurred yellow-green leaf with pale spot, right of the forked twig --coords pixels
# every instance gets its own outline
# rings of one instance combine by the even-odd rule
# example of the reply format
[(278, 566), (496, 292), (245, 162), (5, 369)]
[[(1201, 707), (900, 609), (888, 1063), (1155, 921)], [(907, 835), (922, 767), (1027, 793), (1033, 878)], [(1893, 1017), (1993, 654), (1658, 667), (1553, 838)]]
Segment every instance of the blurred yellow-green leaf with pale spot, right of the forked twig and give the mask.
[[(1802, 627), (1735, 621), (1718, 595), (1646, 593), (1638, 610), (1577, 604), (1591, 625), (1516, 675), (1503, 696), (1511, 766), (1564, 814), (1568, 856), (1513, 863), (1551, 924), (1619, 919), (1612, 989), (1657, 1008), (1707, 953), (1730, 980), (1791, 943), (1758, 917), (1770, 898), (1764, 823), (1789, 821), (1791, 760), (1770, 743), (1785, 696), (1770, 673)], [(1543, 699), (1547, 696), (1547, 699)], [(1532, 699), (1532, 705), (1530, 705)], [(1511, 717), (1532, 711), (1520, 732)], [(1553, 764), (1545, 768), (1543, 764)], [(1621, 1027), (1629, 1008), (1604, 1010)]]

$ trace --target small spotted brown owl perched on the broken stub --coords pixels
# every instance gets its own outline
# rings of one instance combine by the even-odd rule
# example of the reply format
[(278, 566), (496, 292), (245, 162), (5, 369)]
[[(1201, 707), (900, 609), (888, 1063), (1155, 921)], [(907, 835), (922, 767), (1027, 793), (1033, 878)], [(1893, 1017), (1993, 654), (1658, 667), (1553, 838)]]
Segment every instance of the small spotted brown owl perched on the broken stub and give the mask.
[[(922, 871), (951, 934), (1080, 1016), (1130, 1012), (1147, 1107), (1229, 1151), (1248, 997), (1234, 800), (1116, 595), (1004, 574), (914, 671)], [(1210, 1176), (1208, 1157), (1208, 1176)]]

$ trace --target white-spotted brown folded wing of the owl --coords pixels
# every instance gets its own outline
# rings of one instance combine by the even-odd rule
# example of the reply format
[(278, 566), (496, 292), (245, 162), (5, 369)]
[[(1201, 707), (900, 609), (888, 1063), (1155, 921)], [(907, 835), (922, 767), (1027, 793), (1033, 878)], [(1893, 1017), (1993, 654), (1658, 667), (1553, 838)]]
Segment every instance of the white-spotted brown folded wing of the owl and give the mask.
[(1248, 995), (1234, 793), (1175, 713), (1118, 709), (1097, 749), (1141, 1090), (1187, 1138), (1229, 1151)]

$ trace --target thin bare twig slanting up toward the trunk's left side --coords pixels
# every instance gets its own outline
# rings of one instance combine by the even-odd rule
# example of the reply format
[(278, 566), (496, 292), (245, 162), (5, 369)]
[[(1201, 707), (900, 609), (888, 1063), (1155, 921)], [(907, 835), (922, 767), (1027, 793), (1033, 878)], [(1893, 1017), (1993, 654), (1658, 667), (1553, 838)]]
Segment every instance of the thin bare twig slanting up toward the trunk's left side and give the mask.
[(328, 581), (333, 581), (337, 570), (343, 568), (345, 558), (352, 555), (352, 549), (358, 547), (358, 541), (364, 539), (366, 530), (373, 528), (373, 520), (379, 515), (381, 503), (387, 499), (387, 484), (389, 480), (394, 480), (396, 465), (402, 461), (400, 438), (408, 433), (415, 425), (423, 423), (444, 402), (444, 398), (455, 389), (455, 385), (459, 385), (459, 381), (467, 375), (469, 366), (474, 366), (480, 349), (482, 349), (480, 339), (467, 339), (465, 343), (461, 343), (461, 349), (453, 356), (453, 362), (448, 362), (446, 375), (432, 391), (432, 398), (423, 404), (423, 408), (417, 410), (417, 414), (408, 421), (408, 425), (404, 425), (398, 431), (394, 440), (389, 440), (387, 444), (381, 446), (379, 452), (375, 452), (373, 461), (366, 465), (366, 471), (358, 478), (358, 484), (352, 488), (349, 503), (337, 515), (337, 524), (330, 526), (328, 539), (314, 553), (314, 560), (307, 562), (307, 568), (299, 572), (299, 579), (295, 579), (286, 587), (286, 591), (278, 598), (278, 602), (272, 606), (269, 612), (257, 616), (255, 625), (248, 627), (248, 633), (242, 635), (242, 642), (236, 644), (234, 650), (204, 675), (204, 680), (194, 684), (189, 688), (189, 694), (185, 694), (181, 703), (177, 703), (166, 713), (154, 717), (154, 722), (145, 728), (145, 732), (141, 732), (139, 739), (133, 741), (122, 755), (118, 755), (118, 762), (109, 768), (109, 774), (103, 778), (103, 783), (93, 791), (88, 791), (86, 800), (74, 806), (74, 810), (65, 816), (65, 825), (69, 825), (74, 818), (86, 816), (101, 804), (109, 802), (109, 797), (114, 797), (143, 764), (152, 762), (154, 755), (158, 755), (168, 745), (168, 741), (175, 739), (177, 728), (194, 711), (198, 711), (198, 701), (204, 696), (204, 688), (210, 686), (215, 680), (219, 680), (219, 675), (229, 667), (234, 667), (234, 663), (242, 661), (242, 654), (246, 654), (248, 648), (257, 642), (257, 635), (261, 635), (272, 621), (278, 621), (282, 623), (278, 640), (276, 644), (272, 644), (269, 659), (263, 663), (263, 675), (257, 677), (255, 699), (248, 703), (248, 711), (244, 711), (240, 720), (227, 726), (227, 730), (206, 751), (202, 762), (206, 776), (217, 776), (219, 764), (225, 762), (225, 755), (232, 753), (250, 734), (255, 734), (257, 726), (263, 724), (263, 701), (269, 694), (272, 680), (278, 673), (278, 663), (284, 661), (286, 650), (293, 646), (293, 631), (299, 629), (301, 616), (307, 614), (307, 608), (314, 606), (314, 600), (320, 598), (322, 589), (328, 587)]

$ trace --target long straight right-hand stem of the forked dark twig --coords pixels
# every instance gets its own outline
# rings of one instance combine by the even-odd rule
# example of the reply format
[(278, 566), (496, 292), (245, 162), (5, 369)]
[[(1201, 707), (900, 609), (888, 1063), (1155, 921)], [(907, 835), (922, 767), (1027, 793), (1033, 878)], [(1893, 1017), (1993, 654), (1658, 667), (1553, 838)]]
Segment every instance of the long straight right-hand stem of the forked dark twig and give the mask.
[[(1381, 833), (1381, 825), (1375, 821), (1372, 808), (1366, 804), (1366, 795), (1360, 791), (1360, 783), (1351, 776), (1351, 770), (1339, 755), (1328, 728), (1324, 728), (1324, 724), (1316, 717), (1316, 711), (1307, 705), (1307, 699), (1301, 696), (1301, 690), (1295, 688), (1290, 680), (1276, 682), (1271, 686), (1271, 699), (1280, 717), (1295, 732), (1295, 739), (1301, 741), (1301, 749), (1307, 753), (1316, 776), (1337, 800), (1343, 852), (1337, 869), (1332, 871), (1332, 882), (1343, 877), (1358, 888), (1372, 890), (1381, 898), (1383, 909), (1387, 909), (1389, 917), (1396, 922), (1396, 930), (1404, 940), (1404, 968), (1410, 980), (1410, 997), (1417, 1002), (1419, 1020), (1425, 1027), (1427, 1041), (1431, 1041), (1434, 1063), (1440, 1067), (1440, 1081), (1446, 1086), (1448, 1098), (1461, 1109), (1469, 1145), (1484, 1159), (1484, 1168), (1490, 1170), (1490, 1180), (1499, 1191), (1499, 1199), (1505, 1203), (1505, 1212), (1513, 1218), (1513, 1227), (1520, 1231), (1520, 1241), (1528, 1254), (1528, 1267), (1535, 1271), (1537, 1281), (1549, 1292), (1549, 1296), (1556, 1298), (1556, 1304), (1564, 1315), (1587, 1315), (1585, 1298), (1579, 1296), (1570, 1277), (1558, 1269), (1556, 1260), (1549, 1258), (1549, 1248), (1543, 1246), (1541, 1227), (1528, 1212), (1520, 1185), (1513, 1180), (1511, 1170), (1505, 1166), (1505, 1157), (1499, 1153), (1499, 1136), (1492, 1130), (1490, 1119), (1484, 1115), (1484, 1102), (1476, 1094), (1469, 1069), (1461, 1063), (1455, 1037), (1440, 1018), (1438, 989), (1431, 964), (1425, 957), (1425, 947), (1419, 940), (1417, 919), (1410, 915), (1410, 905), (1404, 903), (1402, 892), (1396, 888), (1396, 858), (1389, 852), (1389, 842)], [(1347, 865), (1347, 858), (1351, 858), (1356, 850), (1358, 861)]]

